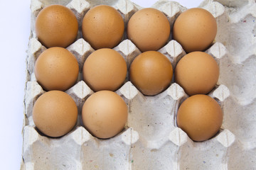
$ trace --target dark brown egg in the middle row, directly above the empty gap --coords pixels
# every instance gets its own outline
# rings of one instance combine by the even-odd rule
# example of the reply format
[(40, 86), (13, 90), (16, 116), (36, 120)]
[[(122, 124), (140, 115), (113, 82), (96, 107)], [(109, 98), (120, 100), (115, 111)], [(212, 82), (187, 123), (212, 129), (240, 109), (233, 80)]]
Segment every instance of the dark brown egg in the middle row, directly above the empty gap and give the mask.
[(160, 52), (148, 51), (137, 56), (131, 64), (129, 77), (144, 95), (153, 96), (164, 91), (173, 76), (171, 62)]

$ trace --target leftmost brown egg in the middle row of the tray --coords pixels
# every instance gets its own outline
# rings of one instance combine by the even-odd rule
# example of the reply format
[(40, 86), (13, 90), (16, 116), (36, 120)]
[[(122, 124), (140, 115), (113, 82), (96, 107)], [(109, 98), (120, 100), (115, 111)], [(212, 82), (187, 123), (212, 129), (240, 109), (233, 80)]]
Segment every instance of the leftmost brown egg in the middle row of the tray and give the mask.
[(78, 79), (78, 61), (63, 47), (51, 47), (39, 55), (35, 63), (38, 84), (46, 91), (65, 91)]

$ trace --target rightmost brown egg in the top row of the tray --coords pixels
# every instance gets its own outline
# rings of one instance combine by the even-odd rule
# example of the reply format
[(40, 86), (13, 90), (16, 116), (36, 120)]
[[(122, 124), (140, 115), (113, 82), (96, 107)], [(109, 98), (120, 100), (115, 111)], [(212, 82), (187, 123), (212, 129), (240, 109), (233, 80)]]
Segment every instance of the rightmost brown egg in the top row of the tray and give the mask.
[(174, 40), (186, 52), (203, 51), (213, 42), (217, 23), (213, 15), (203, 8), (191, 8), (181, 13), (173, 28)]

